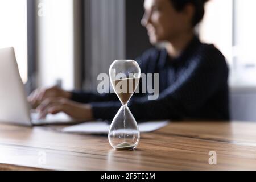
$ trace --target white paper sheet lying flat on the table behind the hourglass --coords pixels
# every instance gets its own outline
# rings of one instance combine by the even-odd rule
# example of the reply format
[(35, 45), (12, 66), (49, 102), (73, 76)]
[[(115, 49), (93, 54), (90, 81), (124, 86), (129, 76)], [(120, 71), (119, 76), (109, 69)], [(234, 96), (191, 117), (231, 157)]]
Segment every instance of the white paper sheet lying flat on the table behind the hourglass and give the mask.
[[(138, 123), (139, 131), (142, 133), (158, 130), (166, 125), (169, 121), (148, 121)], [(65, 127), (61, 131), (69, 133), (87, 133), (87, 134), (108, 134), (110, 125), (104, 121), (85, 122), (79, 125)]]

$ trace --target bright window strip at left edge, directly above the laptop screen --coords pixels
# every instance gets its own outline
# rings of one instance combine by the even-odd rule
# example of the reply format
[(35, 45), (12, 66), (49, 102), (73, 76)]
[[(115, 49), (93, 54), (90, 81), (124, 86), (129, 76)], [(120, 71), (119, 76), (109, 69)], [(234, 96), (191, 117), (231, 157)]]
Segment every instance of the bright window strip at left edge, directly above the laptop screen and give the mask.
[(22, 81), (27, 82), (27, 0), (0, 0), (0, 48), (14, 47)]

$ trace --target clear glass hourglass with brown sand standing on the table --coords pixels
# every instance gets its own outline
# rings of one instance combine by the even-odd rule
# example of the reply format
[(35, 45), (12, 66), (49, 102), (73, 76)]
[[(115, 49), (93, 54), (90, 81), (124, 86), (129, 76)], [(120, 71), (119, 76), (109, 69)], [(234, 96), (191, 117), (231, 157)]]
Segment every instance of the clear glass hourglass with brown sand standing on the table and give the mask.
[(141, 69), (134, 60), (115, 60), (109, 68), (112, 87), (122, 103), (109, 129), (109, 143), (116, 150), (134, 150), (139, 129), (127, 104), (139, 84)]

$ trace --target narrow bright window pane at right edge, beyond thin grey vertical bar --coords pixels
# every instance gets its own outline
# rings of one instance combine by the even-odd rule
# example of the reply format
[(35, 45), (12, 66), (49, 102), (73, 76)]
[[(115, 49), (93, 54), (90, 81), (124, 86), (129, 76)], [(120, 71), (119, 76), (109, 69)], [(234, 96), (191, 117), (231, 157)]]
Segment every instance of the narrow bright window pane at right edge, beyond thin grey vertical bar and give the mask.
[(255, 0), (234, 1), (233, 83), (256, 86)]

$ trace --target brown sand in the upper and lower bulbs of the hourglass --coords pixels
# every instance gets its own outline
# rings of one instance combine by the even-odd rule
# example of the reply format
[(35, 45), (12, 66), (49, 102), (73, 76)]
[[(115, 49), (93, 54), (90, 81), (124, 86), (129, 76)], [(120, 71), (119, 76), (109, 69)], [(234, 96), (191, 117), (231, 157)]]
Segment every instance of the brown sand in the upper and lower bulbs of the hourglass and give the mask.
[[(123, 104), (127, 104), (131, 96), (133, 96), (133, 93), (137, 88), (138, 82), (139, 82), (139, 78), (126, 78), (126, 79), (113, 81), (115, 93), (117, 93), (119, 99), (122, 101)], [(124, 122), (124, 129), (125, 129), (125, 121), (123, 122)], [(133, 150), (134, 147), (135, 147), (134, 144), (130, 144), (129, 142), (126, 142), (126, 140), (125, 142), (115, 146), (117, 150)]]

